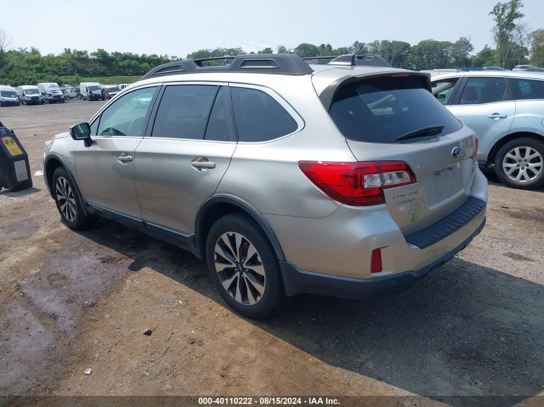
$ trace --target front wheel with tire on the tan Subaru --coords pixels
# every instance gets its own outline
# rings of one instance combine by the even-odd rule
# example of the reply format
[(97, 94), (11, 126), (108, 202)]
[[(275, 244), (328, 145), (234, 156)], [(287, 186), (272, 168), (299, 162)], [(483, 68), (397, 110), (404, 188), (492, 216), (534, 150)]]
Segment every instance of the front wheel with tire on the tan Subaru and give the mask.
[(51, 190), (62, 222), (73, 230), (87, 229), (94, 217), (83, 211), (77, 189), (63, 167), (53, 172)]

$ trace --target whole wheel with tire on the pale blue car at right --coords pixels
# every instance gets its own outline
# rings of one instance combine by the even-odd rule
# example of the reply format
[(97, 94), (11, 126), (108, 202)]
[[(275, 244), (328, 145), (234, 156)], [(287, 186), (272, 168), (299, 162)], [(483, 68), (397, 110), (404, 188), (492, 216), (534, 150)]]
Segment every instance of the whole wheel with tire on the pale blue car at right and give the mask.
[(502, 146), (495, 157), (495, 172), (503, 184), (518, 189), (544, 185), (544, 142), (520, 137)]

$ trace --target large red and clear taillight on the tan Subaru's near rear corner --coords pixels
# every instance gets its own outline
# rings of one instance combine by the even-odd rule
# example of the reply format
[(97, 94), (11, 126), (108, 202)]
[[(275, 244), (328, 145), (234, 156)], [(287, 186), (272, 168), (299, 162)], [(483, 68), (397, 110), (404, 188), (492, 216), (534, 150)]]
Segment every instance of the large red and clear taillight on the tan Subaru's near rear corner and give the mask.
[(403, 161), (299, 161), (299, 168), (332, 199), (351, 206), (385, 203), (384, 189), (416, 182)]

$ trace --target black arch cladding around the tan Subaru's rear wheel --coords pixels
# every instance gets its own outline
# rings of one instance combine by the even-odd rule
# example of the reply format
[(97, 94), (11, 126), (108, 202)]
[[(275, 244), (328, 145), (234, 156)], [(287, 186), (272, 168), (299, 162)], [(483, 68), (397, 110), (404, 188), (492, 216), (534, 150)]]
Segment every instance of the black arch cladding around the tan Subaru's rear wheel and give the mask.
[(228, 196), (219, 195), (209, 198), (208, 201), (202, 204), (196, 215), (195, 220), (195, 246), (201, 252), (202, 258), (206, 258), (206, 238), (209, 229), (213, 223), (217, 221), (221, 216), (231, 214), (233, 212), (242, 212), (254, 220), (259, 227), (264, 231), (264, 234), (268, 237), (276, 257), (280, 261), (285, 261), (285, 255), (281, 248), (280, 242), (277, 240), (274, 231), (269, 226), (267, 221), (249, 205), (242, 201), (242, 199)]

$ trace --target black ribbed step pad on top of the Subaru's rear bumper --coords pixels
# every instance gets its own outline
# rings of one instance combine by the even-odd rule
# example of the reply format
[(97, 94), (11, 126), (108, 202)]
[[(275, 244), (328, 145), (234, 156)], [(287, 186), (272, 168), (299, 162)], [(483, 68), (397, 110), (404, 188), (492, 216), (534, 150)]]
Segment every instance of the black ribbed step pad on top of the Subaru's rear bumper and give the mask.
[(484, 208), (484, 201), (475, 197), (469, 197), (467, 202), (459, 209), (425, 229), (404, 236), (404, 239), (406, 242), (424, 249), (461, 229), (467, 222), (473, 220), (473, 218)]

